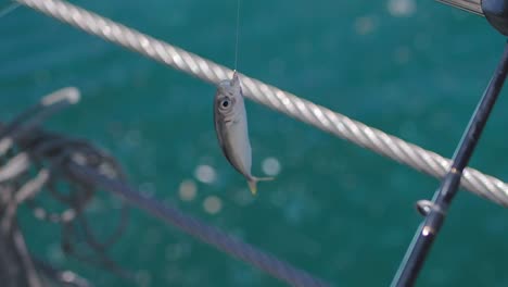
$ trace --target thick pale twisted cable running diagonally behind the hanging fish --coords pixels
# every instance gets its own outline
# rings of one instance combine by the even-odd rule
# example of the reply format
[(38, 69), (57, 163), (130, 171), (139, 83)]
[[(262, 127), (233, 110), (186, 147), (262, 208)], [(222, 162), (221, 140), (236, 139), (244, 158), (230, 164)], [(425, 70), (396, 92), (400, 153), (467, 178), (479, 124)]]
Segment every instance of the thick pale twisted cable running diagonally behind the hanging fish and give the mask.
[[(71, 3), (60, 0), (16, 1), (205, 82), (217, 84), (219, 80), (232, 75), (230, 68)], [(242, 75), (241, 80), (245, 97), (420, 172), (442, 178), (449, 167), (450, 161), (448, 159), (432, 151), (406, 142), (257, 79)], [(461, 186), (481, 197), (508, 207), (508, 185), (493, 176), (468, 167), (463, 172)]]

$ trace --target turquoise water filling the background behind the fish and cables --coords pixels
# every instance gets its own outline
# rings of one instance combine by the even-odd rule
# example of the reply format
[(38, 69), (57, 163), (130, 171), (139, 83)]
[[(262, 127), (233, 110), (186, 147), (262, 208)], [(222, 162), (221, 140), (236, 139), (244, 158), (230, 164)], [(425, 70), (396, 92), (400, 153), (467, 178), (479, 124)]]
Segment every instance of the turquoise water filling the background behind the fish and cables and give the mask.
[[(236, 1), (73, 2), (232, 65)], [(243, 0), (241, 15), (242, 73), (446, 157), (504, 45), (484, 18), (434, 1)], [(252, 198), (217, 146), (213, 86), (25, 8), (0, 18), (0, 35), (1, 118), (54, 89), (79, 87), (81, 102), (49, 128), (109, 150), (144, 192), (336, 286), (389, 285), (421, 220), (414, 203), (437, 187), (249, 101), (254, 173), (280, 165)], [(471, 165), (507, 178), (503, 96)], [(90, 212), (104, 222), (100, 234), (115, 220), (109, 211), (96, 204)], [(506, 286), (507, 214), (460, 192), (419, 286)], [(138, 210), (111, 250), (136, 273), (138, 284), (125, 282), (65, 259), (59, 228), (21, 215), (34, 253), (97, 286), (283, 286)]]

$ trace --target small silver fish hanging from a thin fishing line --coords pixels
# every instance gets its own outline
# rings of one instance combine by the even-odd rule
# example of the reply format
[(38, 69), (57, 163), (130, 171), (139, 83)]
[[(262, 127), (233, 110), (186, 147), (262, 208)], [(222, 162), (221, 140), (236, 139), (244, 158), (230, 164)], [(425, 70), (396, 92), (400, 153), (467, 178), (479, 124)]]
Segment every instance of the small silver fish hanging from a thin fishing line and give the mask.
[(217, 86), (214, 99), (214, 123), (224, 155), (246, 178), (251, 192), (255, 195), (257, 182), (274, 178), (256, 177), (251, 174), (252, 150), (247, 118), (243, 92), (236, 71), (230, 80), (221, 80)]

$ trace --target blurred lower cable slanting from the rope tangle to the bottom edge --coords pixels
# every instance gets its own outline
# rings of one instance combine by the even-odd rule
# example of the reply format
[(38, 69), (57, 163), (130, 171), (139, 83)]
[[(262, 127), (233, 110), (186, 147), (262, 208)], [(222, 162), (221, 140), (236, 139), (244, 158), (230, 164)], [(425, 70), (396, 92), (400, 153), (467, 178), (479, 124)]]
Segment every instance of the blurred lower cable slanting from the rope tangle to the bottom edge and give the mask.
[(65, 166), (75, 177), (91, 184), (100, 186), (131, 203), (132, 205), (144, 210), (147, 213), (152, 214), (166, 223), (178, 227), (182, 232), (192, 235), (200, 240), (212, 245), (219, 250), (241, 259), (254, 266), (267, 272), (276, 278), (279, 278), (291, 286), (302, 287), (318, 287), (330, 286), (321, 279), (317, 279), (308, 273), (295, 269), (290, 264), (280, 261), (276, 257), (266, 253), (255, 247), (247, 245), (230, 235), (220, 232), (192, 216), (189, 216), (176, 208), (160, 203), (157, 200), (143, 196), (138, 190), (129, 187), (128, 185), (110, 179), (106, 176), (98, 173), (93, 169), (78, 165), (69, 162)]

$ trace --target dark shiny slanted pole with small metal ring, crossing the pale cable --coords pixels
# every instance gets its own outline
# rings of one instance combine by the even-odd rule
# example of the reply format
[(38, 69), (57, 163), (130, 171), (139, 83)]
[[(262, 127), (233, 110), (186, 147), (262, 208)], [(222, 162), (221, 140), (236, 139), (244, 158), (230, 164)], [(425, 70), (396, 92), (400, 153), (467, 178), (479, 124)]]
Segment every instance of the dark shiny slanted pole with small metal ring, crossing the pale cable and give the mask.
[(483, 127), (496, 102), (508, 73), (508, 43), (497, 65), (497, 68), (474, 111), (466, 132), (453, 157), (452, 165), (440, 188), (434, 194), (432, 202), (420, 201), (419, 211), (426, 215), (420, 224), (391, 286), (414, 286), (423, 262), (437, 236), (446, 216), (449, 204), (457, 194), (463, 169), (480, 139)]

